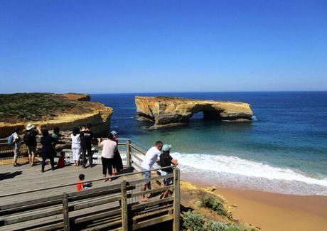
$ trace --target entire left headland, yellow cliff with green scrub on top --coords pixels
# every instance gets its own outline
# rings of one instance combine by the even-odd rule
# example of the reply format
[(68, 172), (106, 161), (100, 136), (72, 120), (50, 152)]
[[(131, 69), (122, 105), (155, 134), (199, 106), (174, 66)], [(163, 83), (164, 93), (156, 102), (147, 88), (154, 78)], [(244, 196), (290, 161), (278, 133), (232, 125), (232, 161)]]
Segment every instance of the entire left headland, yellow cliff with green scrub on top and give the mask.
[(9, 136), (15, 127), (23, 131), (28, 123), (61, 130), (90, 123), (95, 134), (107, 134), (114, 111), (90, 100), (90, 95), (75, 93), (1, 94), (0, 138)]

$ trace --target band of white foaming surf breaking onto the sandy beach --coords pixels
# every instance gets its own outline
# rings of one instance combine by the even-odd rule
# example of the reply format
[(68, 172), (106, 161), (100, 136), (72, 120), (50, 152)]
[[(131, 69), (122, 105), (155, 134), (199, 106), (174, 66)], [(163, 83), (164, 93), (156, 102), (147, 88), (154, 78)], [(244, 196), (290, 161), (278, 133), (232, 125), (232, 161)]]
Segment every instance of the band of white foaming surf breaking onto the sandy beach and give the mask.
[[(172, 153), (183, 172), (224, 185), (235, 184), (278, 193), (327, 195), (327, 179), (304, 176), (289, 168), (269, 166), (237, 156)], [(205, 173), (203, 172), (205, 171)], [(195, 173), (196, 172), (196, 173)], [(315, 186), (313, 186), (315, 185)]]

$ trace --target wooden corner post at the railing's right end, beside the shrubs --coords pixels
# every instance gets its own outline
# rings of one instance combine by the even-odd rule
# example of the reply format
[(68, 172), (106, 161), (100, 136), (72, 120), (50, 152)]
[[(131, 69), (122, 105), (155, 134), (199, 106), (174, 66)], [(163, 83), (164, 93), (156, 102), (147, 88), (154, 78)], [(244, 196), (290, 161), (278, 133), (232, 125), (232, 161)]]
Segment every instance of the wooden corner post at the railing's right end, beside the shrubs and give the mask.
[(173, 231), (179, 230), (181, 213), (180, 173), (179, 168), (173, 170)]

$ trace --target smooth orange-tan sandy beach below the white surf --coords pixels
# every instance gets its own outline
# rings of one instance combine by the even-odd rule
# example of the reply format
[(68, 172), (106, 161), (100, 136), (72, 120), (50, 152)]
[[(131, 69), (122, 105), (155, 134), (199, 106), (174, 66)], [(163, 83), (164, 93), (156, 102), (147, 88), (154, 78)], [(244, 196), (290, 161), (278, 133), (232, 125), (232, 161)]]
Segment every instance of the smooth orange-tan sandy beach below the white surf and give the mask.
[[(213, 186), (183, 175), (181, 179), (200, 188)], [(232, 209), (233, 217), (250, 227), (260, 227), (261, 230), (327, 230), (327, 196), (324, 195), (287, 195), (218, 186), (215, 193), (223, 195), (228, 205), (236, 205)]]

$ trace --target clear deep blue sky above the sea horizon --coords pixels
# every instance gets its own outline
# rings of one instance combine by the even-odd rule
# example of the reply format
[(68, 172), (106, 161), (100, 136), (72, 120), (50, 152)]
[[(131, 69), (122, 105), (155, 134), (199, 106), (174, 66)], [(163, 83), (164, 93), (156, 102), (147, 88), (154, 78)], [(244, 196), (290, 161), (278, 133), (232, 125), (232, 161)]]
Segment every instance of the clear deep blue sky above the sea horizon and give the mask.
[(327, 1), (0, 0), (0, 92), (327, 90)]

